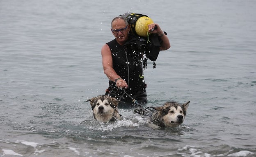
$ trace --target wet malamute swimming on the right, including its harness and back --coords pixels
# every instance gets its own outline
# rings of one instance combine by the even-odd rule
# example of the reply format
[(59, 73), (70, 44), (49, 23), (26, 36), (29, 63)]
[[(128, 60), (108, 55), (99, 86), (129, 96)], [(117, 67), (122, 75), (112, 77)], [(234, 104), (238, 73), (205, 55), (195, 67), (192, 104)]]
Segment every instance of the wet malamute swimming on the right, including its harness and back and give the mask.
[(148, 107), (153, 108), (155, 111), (147, 111), (147, 108), (139, 108), (135, 109), (134, 112), (142, 115), (149, 115), (150, 119), (148, 122), (151, 124), (156, 124), (160, 127), (175, 127), (183, 123), (189, 103), (190, 101), (185, 104), (166, 102), (163, 106)]

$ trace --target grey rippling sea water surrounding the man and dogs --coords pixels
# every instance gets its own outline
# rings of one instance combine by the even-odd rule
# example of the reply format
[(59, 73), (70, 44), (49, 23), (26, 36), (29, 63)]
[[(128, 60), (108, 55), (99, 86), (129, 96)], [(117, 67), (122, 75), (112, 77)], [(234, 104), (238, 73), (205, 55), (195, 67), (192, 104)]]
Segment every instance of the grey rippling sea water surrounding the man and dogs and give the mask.
[[(255, 157), (256, 0), (0, 0), (1, 157)], [(144, 71), (147, 106), (190, 102), (178, 128), (133, 108), (94, 120), (110, 22), (148, 15), (171, 48)]]

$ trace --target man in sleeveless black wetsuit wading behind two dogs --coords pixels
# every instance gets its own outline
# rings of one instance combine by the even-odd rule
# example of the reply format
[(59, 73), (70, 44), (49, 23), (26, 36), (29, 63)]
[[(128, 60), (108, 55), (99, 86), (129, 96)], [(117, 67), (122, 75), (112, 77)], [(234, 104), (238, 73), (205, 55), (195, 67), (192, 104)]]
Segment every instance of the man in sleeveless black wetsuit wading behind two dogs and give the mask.
[[(160, 51), (169, 49), (169, 39), (160, 26), (153, 23), (148, 27), (150, 33), (156, 33), (161, 38)], [(156, 29), (151, 31), (153, 28)], [(103, 45), (101, 49), (103, 70), (109, 79), (109, 88), (105, 94), (123, 102), (131, 102), (133, 98), (139, 104), (145, 104), (147, 95), (142, 68), (143, 51), (133, 42), (130, 25), (125, 18), (114, 18), (111, 31), (115, 39)]]

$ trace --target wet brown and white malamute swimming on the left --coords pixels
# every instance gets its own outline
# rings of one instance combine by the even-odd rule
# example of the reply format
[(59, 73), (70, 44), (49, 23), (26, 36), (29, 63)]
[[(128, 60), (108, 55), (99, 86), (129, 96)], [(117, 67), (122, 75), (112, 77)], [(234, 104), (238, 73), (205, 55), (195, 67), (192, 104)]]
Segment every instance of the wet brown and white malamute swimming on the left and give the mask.
[(122, 120), (122, 117), (118, 112), (119, 100), (116, 98), (108, 95), (98, 95), (86, 102), (90, 102), (96, 120), (100, 122)]

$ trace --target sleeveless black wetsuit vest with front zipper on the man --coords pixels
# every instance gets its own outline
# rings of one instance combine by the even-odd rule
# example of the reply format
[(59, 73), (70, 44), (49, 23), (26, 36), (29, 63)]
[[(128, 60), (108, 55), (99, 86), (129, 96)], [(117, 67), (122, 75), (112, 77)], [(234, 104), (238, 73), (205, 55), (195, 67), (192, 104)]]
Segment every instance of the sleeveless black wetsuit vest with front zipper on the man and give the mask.
[[(146, 88), (142, 68), (143, 53), (139, 52), (136, 43), (130, 36), (124, 45), (118, 44), (114, 39), (107, 43), (112, 53), (113, 69), (128, 84), (126, 92), (134, 95)], [(109, 81), (110, 92), (119, 93), (113, 81)], [(122, 93), (122, 92), (121, 92)]]

